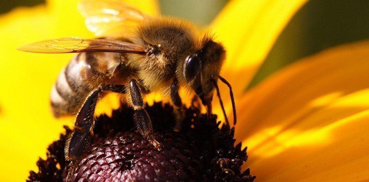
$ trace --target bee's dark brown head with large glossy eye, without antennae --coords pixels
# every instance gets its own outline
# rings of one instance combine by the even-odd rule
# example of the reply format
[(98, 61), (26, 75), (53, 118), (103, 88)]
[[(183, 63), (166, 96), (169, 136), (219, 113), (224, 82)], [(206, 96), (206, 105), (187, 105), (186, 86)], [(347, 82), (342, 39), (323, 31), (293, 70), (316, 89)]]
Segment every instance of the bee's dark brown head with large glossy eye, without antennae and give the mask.
[(215, 83), (222, 68), (226, 51), (222, 44), (203, 38), (198, 50), (183, 62), (183, 76), (211, 112)]

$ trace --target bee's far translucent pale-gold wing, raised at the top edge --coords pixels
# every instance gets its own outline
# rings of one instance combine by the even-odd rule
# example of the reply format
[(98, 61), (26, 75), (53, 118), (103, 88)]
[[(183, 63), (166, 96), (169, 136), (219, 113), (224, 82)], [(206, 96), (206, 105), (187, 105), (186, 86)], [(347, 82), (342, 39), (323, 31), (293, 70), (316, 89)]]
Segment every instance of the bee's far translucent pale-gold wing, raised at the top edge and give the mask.
[(87, 28), (97, 36), (122, 36), (149, 15), (119, 0), (85, 0), (78, 5)]

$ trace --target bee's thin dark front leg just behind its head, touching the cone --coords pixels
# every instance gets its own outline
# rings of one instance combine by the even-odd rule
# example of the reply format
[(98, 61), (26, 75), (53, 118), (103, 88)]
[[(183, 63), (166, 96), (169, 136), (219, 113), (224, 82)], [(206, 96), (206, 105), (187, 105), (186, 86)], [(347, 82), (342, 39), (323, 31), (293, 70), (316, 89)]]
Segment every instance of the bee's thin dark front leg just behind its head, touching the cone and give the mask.
[(175, 126), (174, 131), (179, 131), (182, 127), (182, 121), (185, 119), (185, 110), (183, 109), (182, 99), (178, 94), (178, 80), (174, 79), (173, 83), (170, 85), (170, 99), (174, 106), (175, 114)]

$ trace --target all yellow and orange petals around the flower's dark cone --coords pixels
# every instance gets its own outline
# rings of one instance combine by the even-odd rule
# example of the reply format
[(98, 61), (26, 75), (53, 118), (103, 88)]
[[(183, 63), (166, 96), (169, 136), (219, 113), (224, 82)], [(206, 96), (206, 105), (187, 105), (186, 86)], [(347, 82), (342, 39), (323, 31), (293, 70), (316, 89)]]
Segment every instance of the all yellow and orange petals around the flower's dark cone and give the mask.
[[(159, 14), (155, 1), (127, 1)], [(342, 45), (302, 59), (245, 92), (279, 33), (306, 1), (230, 1), (208, 28), (227, 49), (221, 75), (235, 93), (235, 138), (248, 146), (260, 181), (369, 180), (369, 42)], [(59, 138), (71, 118), (55, 120), (49, 92), (70, 55), (29, 55), (20, 45), (65, 36), (93, 37), (77, 1), (50, 0), (0, 17), (1, 181), (24, 180), (37, 156)], [(221, 86), (226, 98), (228, 88)], [(160, 99), (157, 96), (151, 96)], [(98, 106), (111, 115), (115, 97)], [(229, 102), (225, 103), (231, 111)], [(214, 112), (222, 115), (219, 108)], [(223, 120), (223, 118), (220, 118)]]

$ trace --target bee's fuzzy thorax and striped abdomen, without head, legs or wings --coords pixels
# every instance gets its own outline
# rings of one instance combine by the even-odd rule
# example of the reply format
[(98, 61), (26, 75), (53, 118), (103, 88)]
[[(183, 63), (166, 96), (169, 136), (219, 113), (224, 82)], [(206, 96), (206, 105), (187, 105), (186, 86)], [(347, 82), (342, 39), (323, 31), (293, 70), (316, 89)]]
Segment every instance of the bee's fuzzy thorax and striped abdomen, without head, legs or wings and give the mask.
[[(51, 92), (54, 116), (76, 114), (88, 94), (104, 84), (127, 84), (137, 79), (143, 90), (168, 93), (175, 77), (186, 82), (182, 60), (195, 50), (195, 29), (177, 19), (160, 18), (143, 22), (129, 41), (145, 49), (158, 47), (160, 54), (84, 52), (75, 56), (61, 71)], [(176, 74), (179, 73), (179, 74)], [(127, 96), (130, 101), (130, 96)]]

